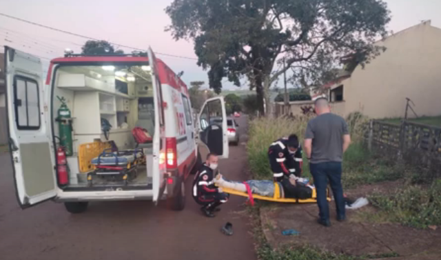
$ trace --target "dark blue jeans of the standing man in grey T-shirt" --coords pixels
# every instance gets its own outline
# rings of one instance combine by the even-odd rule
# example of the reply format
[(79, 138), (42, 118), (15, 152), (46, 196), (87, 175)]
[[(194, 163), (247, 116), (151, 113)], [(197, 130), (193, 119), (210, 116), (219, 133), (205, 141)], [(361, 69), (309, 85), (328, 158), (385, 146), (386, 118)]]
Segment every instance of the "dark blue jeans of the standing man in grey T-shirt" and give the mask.
[(322, 221), (329, 220), (329, 206), (326, 199), (326, 188), (329, 180), (334, 200), (336, 201), (337, 217), (345, 217), (345, 199), (342, 188), (342, 163), (326, 162), (311, 163), (309, 166), (314, 185), (317, 190), (317, 205), (320, 211), (319, 216)]

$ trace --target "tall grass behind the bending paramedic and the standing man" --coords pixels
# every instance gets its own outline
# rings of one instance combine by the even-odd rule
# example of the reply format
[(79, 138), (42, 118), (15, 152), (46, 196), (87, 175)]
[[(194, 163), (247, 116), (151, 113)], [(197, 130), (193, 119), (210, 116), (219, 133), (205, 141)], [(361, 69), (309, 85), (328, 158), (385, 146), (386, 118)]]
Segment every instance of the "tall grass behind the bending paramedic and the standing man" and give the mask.
[[(308, 117), (289, 119), (261, 118), (250, 122), (247, 153), (249, 166), (256, 179), (272, 179), (267, 157), (269, 144), (280, 137), (297, 134), (300, 140), (305, 134)], [(354, 188), (361, 184), (380, 181), (393, 181), (402, 177), (402, 168), (390, 167), (387, 161), (373, 157), (362, 144), (363, 132), (367, 119), (359, 113), (347, 118), (353, 143), (343, 155), (342, 182), (345, 188)], [(311, 178), (306, 153), (303, 153), (303, 176)]]

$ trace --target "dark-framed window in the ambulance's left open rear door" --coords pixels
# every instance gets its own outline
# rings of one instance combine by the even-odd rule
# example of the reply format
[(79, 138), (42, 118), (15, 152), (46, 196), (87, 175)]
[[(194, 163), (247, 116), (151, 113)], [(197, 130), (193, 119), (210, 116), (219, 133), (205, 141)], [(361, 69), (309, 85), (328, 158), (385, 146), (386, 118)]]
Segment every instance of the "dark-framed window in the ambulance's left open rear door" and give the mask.
[(14, 78), (15, 121), (19, 130), (40, 128), (39, 86), (37, 81), (26, 77)]

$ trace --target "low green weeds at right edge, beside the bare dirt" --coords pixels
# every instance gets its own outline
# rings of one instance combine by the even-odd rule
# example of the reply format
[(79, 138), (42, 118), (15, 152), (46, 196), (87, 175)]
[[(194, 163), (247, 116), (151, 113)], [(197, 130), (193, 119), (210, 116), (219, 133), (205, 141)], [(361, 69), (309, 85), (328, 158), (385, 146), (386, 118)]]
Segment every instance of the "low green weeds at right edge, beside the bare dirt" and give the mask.
[(369, 201), (389, 221), (422, 229), (441, 226), (441, 180), (429, 187), (412, 185), (393, 194), (373, 194)]

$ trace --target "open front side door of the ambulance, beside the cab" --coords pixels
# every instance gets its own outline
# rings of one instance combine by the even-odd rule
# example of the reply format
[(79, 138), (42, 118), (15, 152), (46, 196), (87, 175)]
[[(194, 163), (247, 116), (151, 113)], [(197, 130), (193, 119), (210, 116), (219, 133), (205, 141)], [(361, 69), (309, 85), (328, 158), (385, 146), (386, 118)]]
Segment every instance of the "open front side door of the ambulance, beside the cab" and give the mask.
[(199, 139), (222, 159), (229, 155), (227, 112), (223, 97), (207, 99), (198, 117)]

